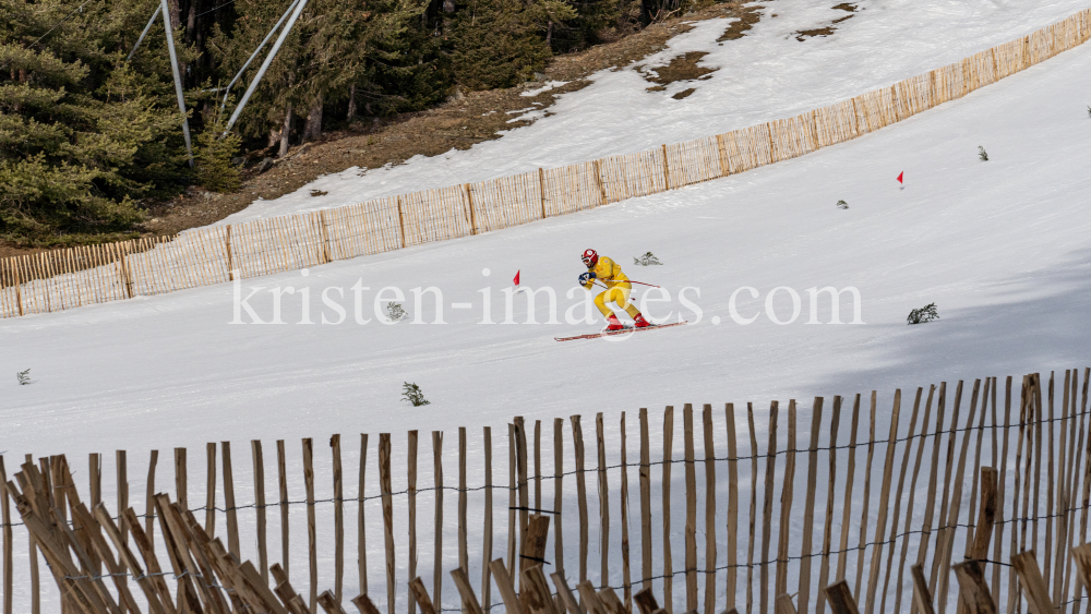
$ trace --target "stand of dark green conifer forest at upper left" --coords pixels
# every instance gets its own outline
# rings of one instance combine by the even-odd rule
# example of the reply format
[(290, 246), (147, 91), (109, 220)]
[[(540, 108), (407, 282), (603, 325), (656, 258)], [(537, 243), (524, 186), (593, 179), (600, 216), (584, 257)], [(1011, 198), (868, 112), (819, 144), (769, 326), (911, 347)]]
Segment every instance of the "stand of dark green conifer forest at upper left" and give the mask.
[[(279, 145), (284, 155), (324, 124), (422, 110), (455, 84), (509, 87), (533, 79), (553, 51), (632, 27), (640, 7), (676, 11), (688, 2), (307, 1), (236, 124), (238, 136), (221, 139), (221, 88), (290, 0), (168, 0), (197, 135), (194, 170), (161, 16), (127, 59), (159, 0), (0, 2), (0, 239), (48, 245), (131, 236), (144, 207), (188, 183), (237, 186), (231, 159), (240, 143)], [(228, 108), (271, 49), (232, 85)]]

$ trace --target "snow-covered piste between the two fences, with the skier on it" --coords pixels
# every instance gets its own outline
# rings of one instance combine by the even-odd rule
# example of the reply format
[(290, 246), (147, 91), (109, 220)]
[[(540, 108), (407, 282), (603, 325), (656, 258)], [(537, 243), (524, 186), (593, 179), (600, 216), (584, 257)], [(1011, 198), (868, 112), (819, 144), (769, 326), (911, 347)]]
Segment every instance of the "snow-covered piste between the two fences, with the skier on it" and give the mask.
[[(338, 262), (308, 277), (243, 284), (243, 297), (252, 288), (310, 288), (313, 322), (336, 320), (320, 297), (326, 287), (343, 288), (339, 302), (349, 313), (336, 326), (230, 325), (228, 285), (4, 321), (0, 372), (32, 368), (36, 383), (5, 387), (2, 447), (74, 454), (197, 444), (214, 433), (446, 429), (502, 423), (515, 412), (889, 392), (942, 377), (1082, 364), (1091, 359), (1089, 71), (1091, 48), (1081, 47), (879, 133), (771, 167)], [(990, 161), (978, 159), (979, 145)], [(902, 170), (907, 188), (899, 190), (894, 178)], [(838, 200), (850, 208), (835, 207)], [(703, 318), (623, 342), (552, 340), (600, 323), (478, 324), (479, 290), (492, 288), (492, 320), (502, 321), (501, 290), (519, 269), (525, 286), (555, 288), (564, 322), (577, 303), (565, 292), (589, 246), (670, 292), (672, 302), (649, 308), (658, 317), (681, 311), (695, 320), (679, 293), (699, 288), (699, 298), (696, 290), (686, 298)], [(663, 266), (632, 266), (632, 256), (649, 250)], [(482, 276), (483, 268), (492, 275)], [(358, 279), (370, 287), (362, 291), (364, 317), (374, 318), (383, 287), (408, 294), (435, 286), (447, 324), (357, 325)], [(790, 325), (766, 315), (739, 325), (728, 303), (744, 286), (759, 297), (738, 293), (741, 316), (760, 314), (780, 286), (798, 291), (802, 314)], [(858, 288), (866, 324), (805, 324), (805, 290), (825, 286)], [(525, 296), (516, 298), (523, 322)], [(412, 296), (404, 302), (416, 314)], [(455, 309), (458, 302), (472, 306)], [(940, 321), (904, 324), (910, 309), (930, 302)], [(283, 320), (299, 322), (299, 294), (283, 303)], [(548, 318), (544, 303), (539, 293), (539, 322)], [(787, 291), (774, 303), (779, 318), (791, 315)], [(269, 292), (250, 304), (272, 317)], [(423, 306), (431, 322), (431, 296)], [(846, 296), (843, 321), (850, 306)], [(399, 404), (406, 381), (432, 405)]]

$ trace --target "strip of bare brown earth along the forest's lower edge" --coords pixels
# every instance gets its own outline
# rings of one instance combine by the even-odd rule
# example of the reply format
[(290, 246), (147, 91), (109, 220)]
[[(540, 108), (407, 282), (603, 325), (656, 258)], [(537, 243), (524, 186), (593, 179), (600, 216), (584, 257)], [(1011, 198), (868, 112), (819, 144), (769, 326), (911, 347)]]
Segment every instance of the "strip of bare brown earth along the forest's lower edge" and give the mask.
[[(662, 50), (670, 38), (692, 29), (687, 22), (740, 17), (741, 21), (732, 23), (719, 38), (734, 40), (760, 19), (762, 9), (753, 5), (744, 8), (742, 2), (714, 4), (654, 24), (613, 43), (558, 56), (546, 69), (542, 81), (566, 83), (536, 96), (520, 94), (540, 88), (544, 83), (524, 83), (507, 89), (457, 92), (445, 104), (427, 111), (357, 121), (347, 130), (325, 133), (321, 140), (292, 147), (284, 158), (271, 160), (272, 166), (266, 162), (264, 172), (261, 172), (261, 155), (251, 155), (238, 192), (217, 194), (191, 186), (185, 194), (172, 201), (151, 206), (148, 221), (140, 228), (141, 236), (173, 234), (188, 228), (207, 226), (242, 210), (259, 197), (277, 198), (323, 174), (351, 167), (369, 169), (397, 165), (417, 155), (436, 156), (452, 148), (468, 149), (477, 143), (500, 139), (502, 135), (497, 131), (530, 123), (508, 123), (515, 111), (537, 107), (547, 110), (549, 116), (548, 109), (559, 94), (586, 87), (590, 84), (586, 77), (595, 72), (628, 67)], [(652, 69), (658, 75), (654, 80), (666, 85), (673, 81), (699, 79), (715, 70), (695, 65), (703, 56), (686, 53), (673, 59), (668, 67)], [(674, 97), (682, 98), (688, 94), (692, 92), (682, 92)], [(15, 248), (0, 241), (0, 256), (38, 251), (41, 250)]]

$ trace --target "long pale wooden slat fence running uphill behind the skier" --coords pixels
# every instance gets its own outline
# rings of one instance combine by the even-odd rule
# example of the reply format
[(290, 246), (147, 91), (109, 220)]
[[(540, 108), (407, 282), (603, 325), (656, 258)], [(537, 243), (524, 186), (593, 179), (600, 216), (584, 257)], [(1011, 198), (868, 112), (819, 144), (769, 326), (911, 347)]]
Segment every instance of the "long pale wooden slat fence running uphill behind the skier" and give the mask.
[(0, 317), (298, 270), (676, 190), (874, 132), (1089, 38), (1091, 9), (889, 87), (726, 134), (322, 212), (3, 258)]

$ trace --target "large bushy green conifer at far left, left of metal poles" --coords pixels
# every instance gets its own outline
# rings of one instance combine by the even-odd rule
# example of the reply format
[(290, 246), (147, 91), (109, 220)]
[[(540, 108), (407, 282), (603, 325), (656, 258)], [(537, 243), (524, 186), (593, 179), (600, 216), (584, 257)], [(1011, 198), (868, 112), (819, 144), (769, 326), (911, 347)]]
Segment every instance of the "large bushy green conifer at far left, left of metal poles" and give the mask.
[(120, 51), (134, 9), (109, 0), (0, 4), (0, 237), (51, 244), (130, 231), (177, 191), (177, 106)]

